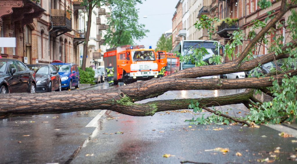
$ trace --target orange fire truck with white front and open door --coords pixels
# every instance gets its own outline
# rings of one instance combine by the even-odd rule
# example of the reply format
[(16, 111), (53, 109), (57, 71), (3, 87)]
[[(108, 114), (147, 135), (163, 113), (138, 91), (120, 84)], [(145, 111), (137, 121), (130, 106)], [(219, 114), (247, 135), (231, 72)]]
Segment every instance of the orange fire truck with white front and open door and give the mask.
[(137, 80), (158, 78), (160, 70), (167, 66), (167, 55), (157, 55), (151, 46), (144, 49), (144, 46), (125, 45), (106, 50), (105, 69), (110, 63), (114, 67), (114, 84), (129, 84)]

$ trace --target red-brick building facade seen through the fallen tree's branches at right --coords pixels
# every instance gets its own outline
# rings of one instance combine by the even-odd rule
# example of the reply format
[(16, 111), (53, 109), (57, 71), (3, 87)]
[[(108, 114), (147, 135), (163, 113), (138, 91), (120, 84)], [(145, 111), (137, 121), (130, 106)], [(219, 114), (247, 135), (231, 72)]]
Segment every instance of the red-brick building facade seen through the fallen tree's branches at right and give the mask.
[[(217, 37), (224, 37), (229, 38), (230, 34), (233, 33), (234, 30), (237, 30), (238, 28), (240, 30), (243, 30), (243, 33), (246, 35), (250, 31), (250, 27), (252, 25), (252, 20), (260, 20), (265, 21), (266, 17), (268, 17), (267, 12), (275, 10), (274, 14), (277, 14), (280, 10), (281, 1), (271, 0), (272, 6), (268, 9), (260, 9), (260, 7), (257, 6), (257, 0), (227, 0), (222, 1), (219, 0), (218, 3), (218, 13), (220, 19), (225, 19), (227, 17), (231, 19), (238, 19), (238, 22), (234, 25), (227, 25), (226, 23), (222, 23), (219, 25)], [(273, 42), (273, 37), (275, 35), (282, 35), (284, 36), (284, 40), (282, 41), (284, 44), (287, 42), (290, 42), (290, 37), (288, 37), (289, 32), (286, 31), (286, 24), (285, 21), (287, 20), (288, 16), (290, 15), (290, 12), (287, 12), (284, 17), (282, 17), (276, 26), (274, 26), (274, 33), (267, 34), (265, 38), (268, 39), (268, 44), (266, 46), (255, 46), (255, 51), (253, 51), (254, 55), (263, 55), (268, 53), (268, 49), (271, 42)], [(281, 28), (277, 28), (279, 24), (283, 24)], [(260, 29), (256, 30), (256, 33), (258, 33)], [(221, 44), (225, 44), (226, 41), (220, 40)], [(235, 53), (240, 53), (244, 50), (244, 47), (247, 46), (249, 41), (244, 41), (243, 46), (236, 47)], [(263, 44), (263, 43), (262, 43)], [(230, 62), (228, 59), (225, 60), (225, 62)]]

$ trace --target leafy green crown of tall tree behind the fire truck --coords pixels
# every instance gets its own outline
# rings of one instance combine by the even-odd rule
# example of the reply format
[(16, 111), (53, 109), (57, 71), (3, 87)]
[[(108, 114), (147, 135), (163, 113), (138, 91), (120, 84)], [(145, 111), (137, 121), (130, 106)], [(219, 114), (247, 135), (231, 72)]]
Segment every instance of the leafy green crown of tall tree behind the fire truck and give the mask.
[(104, 36), (105, 44), (111, 47), (133, 45), (134, 40), (140, 40), (149, 30), (138, 23), (138, 9), (135, 6), (141, 0), (113, 0), (110, 3), (112, 12), (107, 20), (109, 28)]

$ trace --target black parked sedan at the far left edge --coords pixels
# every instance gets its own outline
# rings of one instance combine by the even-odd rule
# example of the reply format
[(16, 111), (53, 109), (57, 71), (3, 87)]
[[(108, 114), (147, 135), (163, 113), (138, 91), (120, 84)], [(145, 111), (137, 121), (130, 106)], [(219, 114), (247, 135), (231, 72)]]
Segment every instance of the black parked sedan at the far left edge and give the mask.
[(36, 92), (35, 72), (18, 60), (0, 59), (0, 94)]

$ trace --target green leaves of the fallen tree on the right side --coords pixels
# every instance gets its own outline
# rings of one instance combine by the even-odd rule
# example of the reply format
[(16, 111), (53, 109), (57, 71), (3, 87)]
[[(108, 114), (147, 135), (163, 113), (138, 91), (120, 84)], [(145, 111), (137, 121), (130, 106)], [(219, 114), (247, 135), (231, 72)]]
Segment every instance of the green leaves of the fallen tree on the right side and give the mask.
[[(260, 8), (262, 9), (266, 9), (268, 7), (271, 7), (272, 4), (268, 0), (260, 0), (258, 1), (258, 6), (260, 6)], [(251, 22), (252, 25), (249, 27), (249, 33), (245, 34), (242, 30), (234, 31), (233, 34), (230, 36), (230, 40), (228, 40), (228, 43), (225, 45), (224, 56), (228, 57), (229, 60), (234, 59), (234, 57), (238, 57), (239, 60), (237, 61), (240, 65), (242, 62), (255, 59), (255, 54), (259, 53), (257, 52), (257, 49), (262, 48), (268, 43), (268, 40), (263, 36), (274, 34), (274, 41), (268, 48), (268, 53), (272, 53), (275, 56), (275, 58), (277, 57), (277, 55), (282, 54), (287, 54), (289, 56), (288, 58), (282, 59), (281, 61), (274, 60), (274, 62), (271, 62), (271, 65), (280, 64), (281, 66), (277, 70), (276, 66), (268, 67), (268, 69), (270, 69), (270, 73), (268, 74), (258, 73), (257, 70), (260, 70), (260, 67), (265, 67), (265, 65), (260, 62), (252, 71), (250, 71), (249, 77), (257, 77), (259, 79), (270, 77), (270, 80), (273, 81), (273, 86), (267, 88), (258, 88), (256, 89), (255, 93), (263, 94), (262, 91), (265, 91), (270, 93), (273, 99), (269, 102), (260, 102), (257, 100), (253, 100), (253, 102), (248, 102), (247, 105), (245, 105), (249, 108), (250, 113), (247, 113), (247, 115), (243, 117), (240, 116), (237, 119), (247, 121), (248, 123), (256, 124), (279, 124), (284, 122), (292, 122), (293, 120), (295, 120), (297, 116), (297, 76), (291, 76), (290, 72), (296, 70), (297, 68), (297, 49), (296, 45), (293, 46), (293, 44), (296, 43), (297, 39), (297, 11), (295, 9), (296, 7), (297, 1), (286, 2), (283, 0), (282, 12), (285, 13), (287, 12), (286, 10), (289, 9), (291, 12), (291, 15), (285, 22), (277, 22), (280, 18), (282, 18), (281, 14), (284, 13), (278, 13), (278, 15), (274, 15), (272, 13), (274, 13), (275, 11), (269, 11), (267, 13), (268, 17), (264, 21), (253, 20)], [(278, 20), (274, 20), (275, 17), (279, 17)], [(206, 15), (202, 15), (202, 17), (195, 23), (195, 27), (197, 28), (197, 30), (207, 28), (209, 31), (209, 38), (211, 38), (213, 31), (215, 30), (214, 24), (219, 21), (220, 20), (218, 18), (209, 18)], [(258, 36), (258, 39), (255, 40), (254, 38), (256, 38), (256, 36), (260, 33), (258, 31), (265, 28), (269, 21), (275, 21), (276, 23), (274, 23), (273, 25), (276, 25), (275, 27), (277, 29), (282, 29), (282, 23), (285, 23), (287, 25), (286, 31), (289, 32), (289, 36), (287, 38), (284, 38), (282, 34), (277, 33), (276, 29), (271, 28), (266, 30), (265, 33), (261, 33), (262, 36)], [(287, 40), (288, 38), (290, 38), (290, 40), (292, 41), (284, 44), (284, 40)], [(249, 44), (254, 44), (255, 46), (251, 46), (251, 48), (248, 49), (248, 51), (236, 54), (235, 47), (242, 46), (244, 40), (250, 41)], [(219, 45), (217, 45), (217, 48), (218, 46)], [(258, 47), (257, 49), (256, 46)], [(286, 46), (285, 49), (284, 46)], [(244, 53), (246, 56), (242, 56)], [(178, 55), (181, 56), (181, 62), (192, 62), (195, 64), (195, 66), (207, 65), (206, 62), (201, 62), (200, 60), (197, 60), (202, 59), (206, 54), (208, 54), (208, 52), (204, 47), (192, 49), (189, 51), (189, 54), (184, 56), (181, 56), (181, 54), (178, 53)], [(220, 56), (219, 54), (214, 54), (211, 58), (209, 58), (208, 62), (210, 64), (221, 64), (222, 56)], [(282, 74), (281, 77), (278, 76), (280, 74)], [(277, 76), (275, 77), (275, 75)], [(201, 112), (203, 106), (201, 106), (197, 102), (191, 102), (189, 108), (194, 109), (195, 112)], [(207, 118), (204, 118), (204, 115), (202, 115), (202, 117), (192, 118), (192, 120), (187, 121), (191, 122), (191, 124), (206, 124), (218, 122), (228, 124), (229, 122), (234, 122), (229, 118), (222, 117), (222, 114), (228, 114), (228, 112), (223, 113), (222, 111), (217, 110), (215, 114)]]

